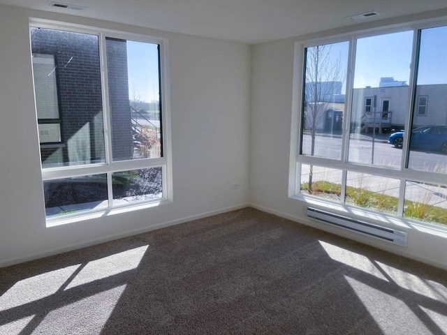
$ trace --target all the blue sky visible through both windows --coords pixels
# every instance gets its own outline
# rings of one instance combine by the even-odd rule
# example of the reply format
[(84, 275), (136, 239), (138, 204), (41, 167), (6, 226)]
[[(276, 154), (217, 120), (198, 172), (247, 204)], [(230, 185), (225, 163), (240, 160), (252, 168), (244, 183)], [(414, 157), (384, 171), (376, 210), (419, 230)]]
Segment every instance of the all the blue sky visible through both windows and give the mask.
[[(356, 47), (354, 88), (379, 87), (381, 77), (410, 80), (413, 31), (359, 38)], [(346, 74), (349, 43), (333, 43), (331, 58), (339, 58)], [(140, 101), (159, 100), (159, 57), (157, 45), (127, 42), (129, 96)], [(418, 84), (447, 83), (447, 27), (423, 29), (420, 43)], [(346, 80), (344, 87), (346, 86)], [(345, 89), (343, 89), (344, 93)]]

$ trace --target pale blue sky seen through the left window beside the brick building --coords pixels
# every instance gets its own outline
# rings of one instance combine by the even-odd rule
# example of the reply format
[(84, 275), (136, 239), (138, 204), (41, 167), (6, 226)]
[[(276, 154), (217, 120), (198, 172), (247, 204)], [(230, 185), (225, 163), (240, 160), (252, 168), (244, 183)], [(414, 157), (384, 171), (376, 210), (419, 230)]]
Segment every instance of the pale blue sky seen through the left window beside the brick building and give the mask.
[(127, 41), (129, 98), (159, 101), (159, 53), (154, 43)]

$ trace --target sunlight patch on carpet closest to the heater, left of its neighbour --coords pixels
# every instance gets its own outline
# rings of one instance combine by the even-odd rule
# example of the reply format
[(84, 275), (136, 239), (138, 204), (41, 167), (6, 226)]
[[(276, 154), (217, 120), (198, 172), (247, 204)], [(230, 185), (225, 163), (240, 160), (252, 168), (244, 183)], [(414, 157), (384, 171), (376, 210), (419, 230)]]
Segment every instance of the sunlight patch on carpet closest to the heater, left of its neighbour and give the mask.
[(366, 272), (367, 274), (371, 274), (372, 276), (383, 279), (384, 281), (388, 281), (388, 279), (383, 276), (381, 271), (377, 269), (376, 265), (374, 265), (371, 260), (366, 258), (364, 255), (360, 255), (360, 253), (354, 253), (353, 251), (349, 251), (323, 241), (319, 242), (325, 252), (328, 253), (329, 257), (332, 258), (332, 260), (342, 262), (349, 267), (353, 267), (360, 271)]

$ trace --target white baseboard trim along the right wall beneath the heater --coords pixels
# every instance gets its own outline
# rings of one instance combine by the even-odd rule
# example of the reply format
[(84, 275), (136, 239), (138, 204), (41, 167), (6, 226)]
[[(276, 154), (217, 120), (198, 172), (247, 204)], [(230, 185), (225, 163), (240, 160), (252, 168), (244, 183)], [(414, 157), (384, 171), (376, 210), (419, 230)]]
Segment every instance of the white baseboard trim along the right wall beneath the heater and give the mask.
[(416, 254), (416, 253), (409, 252), (408, 248), (401, 248), (401, 247), (395, 248), (393, 246), (387, 246), (386, 244), (383, 244), (383, 243), (374, 243), (375, 240), (373, 240), (373, 239), (371, 239), (371, 241), (369, 241), (369, 239), (366, 239), (365, 237), (363, 237), (360, 234), (359, 234), (359, 236), (357, 236), (358, 234), (346, 232), (342, 228), (337, 229), (337, 228), (332, 228), (332, 227), (325, 227), (325, 225), (323, 225), (323, 224), (316, 225), (316, 224), (313, 224), (311, 221), (308, 221), (307, 216), (305, 216), (305, 218), (300, 218), (298, 216), (293, 216), (291, 214), (287, 214), (282, 211), (277, 211), (275, 209), (271, 209), (269, 207), (264, 207), (259, 204), (253, 204), (253, 203), (249, 204), (249, 207), (253, 207), (255, 209), (259, 209), (260, 211), (265, 211), (266, 213), (270, 213), (270, 214), (279, 216), (281, 218), (286, 218), (288, 220), (294, 221), (296, 223), (300, 223), (302, 225), (307, 225), (309, 227), (316, 228), (318, 230), (323, 230), (325, 232), (329, 232), (330, 234), (336, 234), (341, 237), (345, 237), (346, 239), (353, 239), (354, 241), (358, 241), (359, 243), (367, 244), (374, 248), (379, 248), (381, 250), (388, 251), (389, 253), (394, 253), (396, 255), (400, 255), (400, 256), (403, 256), (406, 258), (411, 258), (411, 260), (416, 260), (418, 262), (423, 262), (427, 265), (432, 265), (433, 267), (439, 267), (440, 269), (447, 270), (447, 265), (445, 263), (437, 262), (437, 261), (432, 260), (431, 258), (425, 258), (423, 256)]

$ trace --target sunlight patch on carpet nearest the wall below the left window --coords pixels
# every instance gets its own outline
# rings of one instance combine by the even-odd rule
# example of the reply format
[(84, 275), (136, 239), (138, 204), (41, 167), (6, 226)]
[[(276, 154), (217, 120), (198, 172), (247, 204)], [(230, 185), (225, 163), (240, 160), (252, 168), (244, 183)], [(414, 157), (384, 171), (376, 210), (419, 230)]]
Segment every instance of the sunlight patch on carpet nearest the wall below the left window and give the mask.
[(139, 248), (88, 262), (79, 274), (73, 278), (73, 281), (67, 285), (65, 290), (136, 269), (140, 265), (147, 248), (148, 245), (140, 246)]

